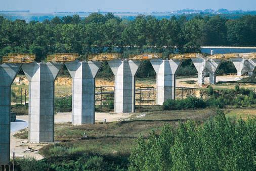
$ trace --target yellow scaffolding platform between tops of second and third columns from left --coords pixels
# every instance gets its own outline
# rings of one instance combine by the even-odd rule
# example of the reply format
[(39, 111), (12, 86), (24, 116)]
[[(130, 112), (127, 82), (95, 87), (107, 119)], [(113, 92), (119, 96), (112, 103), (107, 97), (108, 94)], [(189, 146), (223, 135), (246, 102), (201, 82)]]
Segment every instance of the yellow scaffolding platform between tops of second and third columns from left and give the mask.
[(78, 58), (78, 53), (55, 53), (47, 56), (47, 61), (71, 62)]

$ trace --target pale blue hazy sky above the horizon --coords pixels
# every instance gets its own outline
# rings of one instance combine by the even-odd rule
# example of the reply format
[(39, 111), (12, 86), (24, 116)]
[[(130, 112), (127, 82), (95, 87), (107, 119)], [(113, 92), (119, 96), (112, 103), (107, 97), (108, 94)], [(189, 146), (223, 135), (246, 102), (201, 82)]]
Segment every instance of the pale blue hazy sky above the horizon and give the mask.
[(182, 9), (256, 10), (256, 0), (0, 0), (0, 10), (152, 12)]

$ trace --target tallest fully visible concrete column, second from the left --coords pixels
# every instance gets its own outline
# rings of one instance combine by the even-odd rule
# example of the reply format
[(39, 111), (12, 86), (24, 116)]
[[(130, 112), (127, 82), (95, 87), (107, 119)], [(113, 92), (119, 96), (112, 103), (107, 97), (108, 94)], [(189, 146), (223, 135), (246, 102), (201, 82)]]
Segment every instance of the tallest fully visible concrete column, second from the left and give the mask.
[(54, 141), (54, 81), (63, 64), (54, 62), (24, 64), (29, 81), (28, 141)]

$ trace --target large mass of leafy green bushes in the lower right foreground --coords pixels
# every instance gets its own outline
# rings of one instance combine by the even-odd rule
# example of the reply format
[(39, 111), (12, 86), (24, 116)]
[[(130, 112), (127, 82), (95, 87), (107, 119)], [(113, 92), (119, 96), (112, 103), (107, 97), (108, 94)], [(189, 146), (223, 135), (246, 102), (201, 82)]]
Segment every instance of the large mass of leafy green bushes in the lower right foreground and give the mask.
[(160, 135), (140, 138), (132, 149), (129, 170), (256, 170), (256, 119), (230, 122), (222, 111), (197, 126), (188, 121)]

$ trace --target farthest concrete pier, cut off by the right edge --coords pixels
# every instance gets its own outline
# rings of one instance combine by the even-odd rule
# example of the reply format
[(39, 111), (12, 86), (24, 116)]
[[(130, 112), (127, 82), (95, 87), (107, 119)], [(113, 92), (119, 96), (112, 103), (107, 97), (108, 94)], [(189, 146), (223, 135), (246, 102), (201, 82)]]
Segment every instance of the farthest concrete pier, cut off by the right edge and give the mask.
[(252, 76), (256, 64), (255, 59), (231, 58), (231, 61), (237, 70), (238, 76), (243, 75), (245, 72), (248, 72), (248, 76)]

